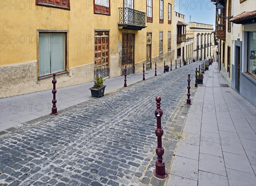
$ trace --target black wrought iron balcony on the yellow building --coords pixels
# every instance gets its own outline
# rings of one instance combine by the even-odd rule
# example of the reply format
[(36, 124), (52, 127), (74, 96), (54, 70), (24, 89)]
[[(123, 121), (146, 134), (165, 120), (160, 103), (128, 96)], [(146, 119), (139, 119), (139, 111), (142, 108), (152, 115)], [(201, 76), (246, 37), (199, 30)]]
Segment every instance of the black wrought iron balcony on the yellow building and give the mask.
[(146, 28), (146, 13), (132, 8), (119, 8), (118, 28), (127, 30)]

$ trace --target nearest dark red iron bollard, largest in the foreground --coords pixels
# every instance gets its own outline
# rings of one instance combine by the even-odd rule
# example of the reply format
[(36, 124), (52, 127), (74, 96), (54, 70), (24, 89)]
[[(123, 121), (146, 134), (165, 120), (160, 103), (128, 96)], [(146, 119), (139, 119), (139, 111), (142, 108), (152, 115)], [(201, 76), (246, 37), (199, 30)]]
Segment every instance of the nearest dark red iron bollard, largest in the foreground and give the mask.
[(155, 133), (157, 135), (157, 148), (156, 148), (156, 154), (157, 154), (157, 161), (156, 161), (156, 168), (154, 169), (154, 175), (157, 178), (166, 178), (168, 176), (168, 173), (165, 170), (165, 163), (163, 161), (163, 153), (164, 149), (162, 147), (162, 135), (163, 135), (163, 129), (161, 127), (161, 117), (163, 115), (163, 111), (160, 108), (160, 101), (161, 98), (159, 96), (156, 97), (157, 101), (157, 109), (155, 110), (155, 116), (157, 117), (157, 128), (155, 130)]

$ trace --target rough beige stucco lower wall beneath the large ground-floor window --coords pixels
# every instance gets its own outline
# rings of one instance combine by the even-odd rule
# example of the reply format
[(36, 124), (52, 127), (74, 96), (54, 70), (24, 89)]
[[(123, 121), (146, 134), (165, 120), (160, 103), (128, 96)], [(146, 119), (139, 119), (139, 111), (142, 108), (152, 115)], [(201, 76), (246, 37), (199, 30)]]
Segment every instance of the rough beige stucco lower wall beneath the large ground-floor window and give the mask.
[[(70, 68), (57, 76), (58, 87), (93, 82), (94, 64)], [(37, 61), (0, 66), (0, 98), (52, 89), (52, 76), (38, 80)]]

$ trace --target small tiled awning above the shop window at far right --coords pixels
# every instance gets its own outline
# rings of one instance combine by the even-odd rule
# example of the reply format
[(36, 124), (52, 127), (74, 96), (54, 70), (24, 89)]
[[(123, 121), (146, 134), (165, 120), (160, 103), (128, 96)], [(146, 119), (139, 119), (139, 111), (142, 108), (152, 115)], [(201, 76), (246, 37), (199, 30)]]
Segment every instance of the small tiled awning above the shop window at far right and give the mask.
[(230, 22), (243, 25), (256, 23), (256, 10), (250, 12), (244, 11), (241, 14), (238, 14), (237, 16), (230, 19)]

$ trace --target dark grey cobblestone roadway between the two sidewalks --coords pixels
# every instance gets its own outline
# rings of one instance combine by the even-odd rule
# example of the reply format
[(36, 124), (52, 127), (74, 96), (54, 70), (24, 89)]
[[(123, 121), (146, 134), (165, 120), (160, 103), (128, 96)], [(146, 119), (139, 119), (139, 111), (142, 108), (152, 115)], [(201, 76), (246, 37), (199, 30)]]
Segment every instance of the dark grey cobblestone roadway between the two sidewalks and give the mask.
[(6, 130), (0, 138), (0, 185), (152, 185), (156, 160), (155, 97), (162, 98), (164, 161), (169, 169), (186, 119), (187, 73), (163, 73), (100, 99), (91, 99)]

